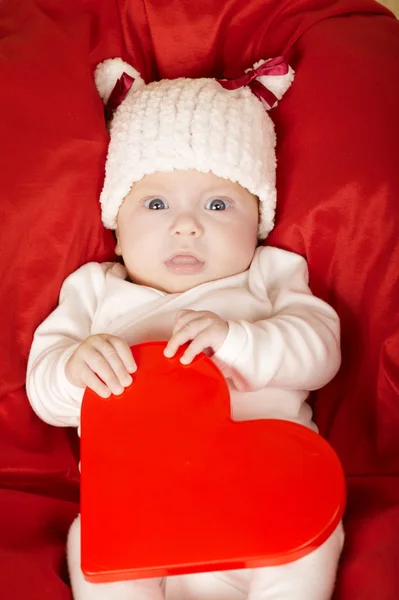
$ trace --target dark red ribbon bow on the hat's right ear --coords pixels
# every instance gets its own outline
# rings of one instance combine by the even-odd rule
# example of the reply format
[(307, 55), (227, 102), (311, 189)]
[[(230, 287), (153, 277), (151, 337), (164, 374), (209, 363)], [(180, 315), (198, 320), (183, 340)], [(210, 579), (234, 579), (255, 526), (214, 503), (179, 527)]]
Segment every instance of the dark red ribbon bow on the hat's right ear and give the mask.
[(272, 107), (278, 98), (263, 83), (258, 81), (258, 77), (263, 75), (286, 75), (288, 73), (288, 63), (284, 56), (277, 56), (260, 65), (257, 69), (251, 69), (236, 79), (217, 79), (226, 90), (237, 90), (240, 87), (248, 86), (252, 93), (259, 100), (264, 100)]

